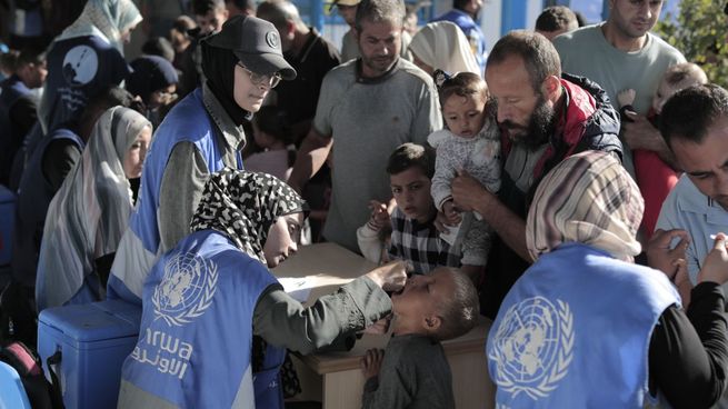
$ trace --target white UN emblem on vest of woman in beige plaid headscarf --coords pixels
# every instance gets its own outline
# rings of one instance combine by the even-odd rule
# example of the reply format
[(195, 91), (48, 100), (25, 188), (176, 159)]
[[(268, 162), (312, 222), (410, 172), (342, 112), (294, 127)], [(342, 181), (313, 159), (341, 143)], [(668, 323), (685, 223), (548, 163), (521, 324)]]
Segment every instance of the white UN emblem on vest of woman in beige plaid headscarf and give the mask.
[(567, 375), (574, 349), (574, 316), (569, 305), (533, 297), (511, 306), (500, 321), (488, 358), (496, 365), (501, 390), (547, 397)]

